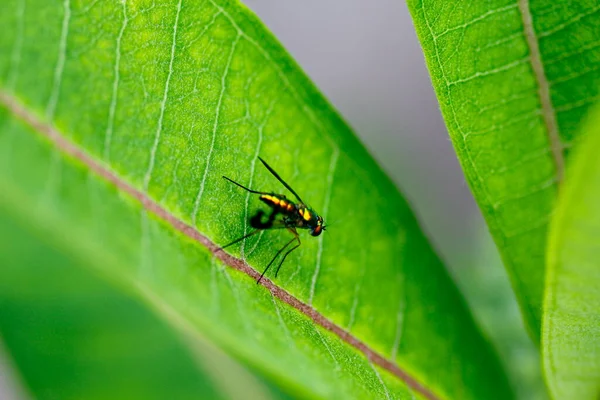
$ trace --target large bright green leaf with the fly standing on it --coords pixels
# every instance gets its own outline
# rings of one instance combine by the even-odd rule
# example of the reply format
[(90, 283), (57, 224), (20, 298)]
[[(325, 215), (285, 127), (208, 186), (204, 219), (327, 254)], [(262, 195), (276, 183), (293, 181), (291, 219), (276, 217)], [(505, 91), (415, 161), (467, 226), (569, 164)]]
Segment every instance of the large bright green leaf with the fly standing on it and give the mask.
[[(298, 396), (511, 397), (405, 200), (247, 9), (9, 3), (9, 212)], [(283, 191), (258, 155), (331, 224), (262, 285), (286, 232), (216, 249), (260, 207), (222, 175)]]

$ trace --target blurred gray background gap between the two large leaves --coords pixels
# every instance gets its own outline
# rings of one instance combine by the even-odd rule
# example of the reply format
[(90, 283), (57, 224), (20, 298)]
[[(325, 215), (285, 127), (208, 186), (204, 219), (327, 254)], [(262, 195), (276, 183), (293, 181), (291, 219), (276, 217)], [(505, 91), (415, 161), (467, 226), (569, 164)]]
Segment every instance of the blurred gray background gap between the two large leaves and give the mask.
[(243, 0), (408, 198), (521, 399), (544, 399), (539, 356), (465, 182), (402, 0)]

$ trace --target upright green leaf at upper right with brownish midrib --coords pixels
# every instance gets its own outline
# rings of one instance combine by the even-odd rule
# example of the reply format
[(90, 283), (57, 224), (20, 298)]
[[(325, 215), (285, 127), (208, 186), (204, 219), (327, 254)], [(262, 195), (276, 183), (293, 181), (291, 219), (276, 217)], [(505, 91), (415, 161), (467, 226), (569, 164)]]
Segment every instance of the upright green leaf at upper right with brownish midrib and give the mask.
[(410, 0), (450, 137), (539, 339), (548, 222), (598, 96), (595, 0)]

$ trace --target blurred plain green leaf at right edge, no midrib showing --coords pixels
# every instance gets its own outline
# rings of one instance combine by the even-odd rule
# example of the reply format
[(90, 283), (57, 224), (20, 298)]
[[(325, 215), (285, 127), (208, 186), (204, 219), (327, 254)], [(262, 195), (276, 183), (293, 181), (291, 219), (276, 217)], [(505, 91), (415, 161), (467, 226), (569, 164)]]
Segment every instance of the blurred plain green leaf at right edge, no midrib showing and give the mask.
[(600, 394), (600, 109), (582, 135), (548, 243), (542, 356), (555, 399)]

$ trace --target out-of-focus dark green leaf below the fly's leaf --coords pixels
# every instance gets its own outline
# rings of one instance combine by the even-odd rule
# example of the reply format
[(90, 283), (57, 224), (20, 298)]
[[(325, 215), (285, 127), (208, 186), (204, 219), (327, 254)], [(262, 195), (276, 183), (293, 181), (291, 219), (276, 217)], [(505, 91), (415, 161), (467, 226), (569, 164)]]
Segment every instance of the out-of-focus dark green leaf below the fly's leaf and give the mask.
[(285, 398), (203, 342), (189, 351), (145, 307), (13, 219), (0, 210), (0, 334), (35, 398)]

